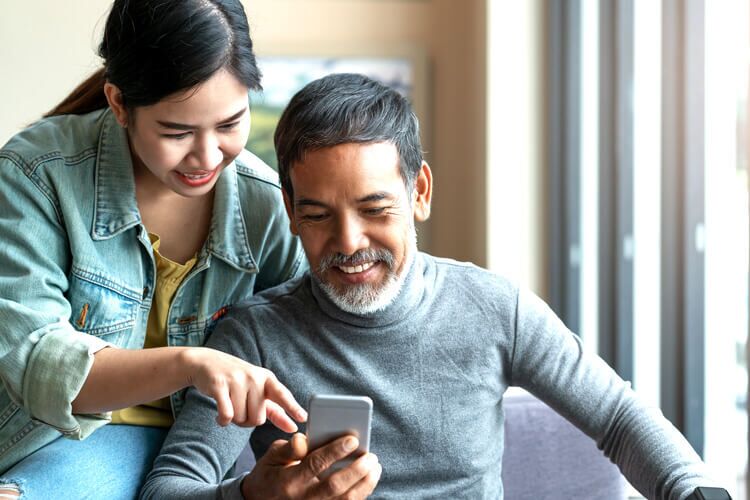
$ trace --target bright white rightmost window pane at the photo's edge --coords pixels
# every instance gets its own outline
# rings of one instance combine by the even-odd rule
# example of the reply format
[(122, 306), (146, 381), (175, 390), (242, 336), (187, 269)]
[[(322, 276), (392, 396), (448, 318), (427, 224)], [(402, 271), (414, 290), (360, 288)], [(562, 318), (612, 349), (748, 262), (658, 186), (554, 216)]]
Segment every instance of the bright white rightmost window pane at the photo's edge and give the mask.
[(748, 325), (747, 0), (706, 2), (705, 459), (746, 498)]

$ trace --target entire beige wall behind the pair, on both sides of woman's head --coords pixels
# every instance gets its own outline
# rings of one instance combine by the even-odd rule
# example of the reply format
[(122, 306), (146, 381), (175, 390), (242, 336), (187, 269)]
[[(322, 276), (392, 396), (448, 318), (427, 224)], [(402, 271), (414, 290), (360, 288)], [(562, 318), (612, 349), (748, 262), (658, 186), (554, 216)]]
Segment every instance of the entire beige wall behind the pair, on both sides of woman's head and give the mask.
[[(258, 53), (320, 44), (412, 48), (428, 61), (423, 119), (435, 176), (422, 248), (486, 264), (487, 0), (245, 0)], [(97, 66), (109, 0), (9, 2), (0, 16), (5, 97), (0, 141), (53, 106)], [(29, 20), (33, 19), (32, 23)], [(10, 77), (8, 77), (10, 76)]]

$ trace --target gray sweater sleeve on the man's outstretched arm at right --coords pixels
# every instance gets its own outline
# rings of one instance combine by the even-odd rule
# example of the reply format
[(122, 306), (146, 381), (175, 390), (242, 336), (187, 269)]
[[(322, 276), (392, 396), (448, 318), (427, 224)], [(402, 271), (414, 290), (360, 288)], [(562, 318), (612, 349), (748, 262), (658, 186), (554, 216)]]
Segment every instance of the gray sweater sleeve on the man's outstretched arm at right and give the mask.
[(542, 300), (523, 291), (511, 379), (593, 438), (647, 498), (683, 500), (697, 486), (715, 485), (661, 411), (646, 406), (629, 382), (583, 350)]

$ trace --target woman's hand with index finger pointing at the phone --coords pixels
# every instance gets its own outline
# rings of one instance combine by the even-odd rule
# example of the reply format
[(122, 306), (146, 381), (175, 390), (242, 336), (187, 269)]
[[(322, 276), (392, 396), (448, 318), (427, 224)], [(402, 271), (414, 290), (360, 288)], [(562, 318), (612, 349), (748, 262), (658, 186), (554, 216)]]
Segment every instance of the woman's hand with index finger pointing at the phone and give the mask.
[(185, 349), (182, 361), (187, 367), (185, 385), (216, 401), (219, 425), (257, 427), (269, 420), (284, 432), (295, 432), (297, 424), (289, 415), (297, 422), (307, 420), (289, 389), (265, 368), (207, 347)]

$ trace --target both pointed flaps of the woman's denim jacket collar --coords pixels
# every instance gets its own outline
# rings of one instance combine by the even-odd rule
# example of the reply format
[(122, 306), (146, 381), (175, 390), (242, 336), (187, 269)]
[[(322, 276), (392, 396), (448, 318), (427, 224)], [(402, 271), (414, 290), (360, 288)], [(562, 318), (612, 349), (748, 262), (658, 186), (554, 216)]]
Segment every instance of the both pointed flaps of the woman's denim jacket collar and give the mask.
[[(96, 162), (94, 223), (91, 237), (106, 240), (141, 223), (135, 199), (135, 178), (127, 133), (111, 110), (105, 112)], [(198, 266), (210, 253), (240, 271), (253, 272), (257, 263), (250, 252), (240, 206), (234, 162), (216, 182), (211, 228)]]

